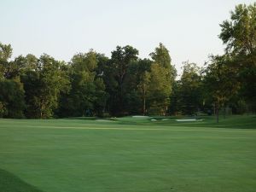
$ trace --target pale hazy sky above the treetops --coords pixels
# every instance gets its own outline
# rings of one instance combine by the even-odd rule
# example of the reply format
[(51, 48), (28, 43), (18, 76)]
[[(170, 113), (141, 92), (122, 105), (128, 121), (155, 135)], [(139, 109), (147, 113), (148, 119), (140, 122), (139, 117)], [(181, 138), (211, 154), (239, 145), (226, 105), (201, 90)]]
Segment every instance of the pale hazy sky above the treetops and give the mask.
[(0, 0), (0, 42), (14, 56), (47, 53), (69, 61), (89, 49), (110, 56), (130, 44), (148, 57), (161, 42), (180, 71), (223, 53), (219, 24), (249, 0)]

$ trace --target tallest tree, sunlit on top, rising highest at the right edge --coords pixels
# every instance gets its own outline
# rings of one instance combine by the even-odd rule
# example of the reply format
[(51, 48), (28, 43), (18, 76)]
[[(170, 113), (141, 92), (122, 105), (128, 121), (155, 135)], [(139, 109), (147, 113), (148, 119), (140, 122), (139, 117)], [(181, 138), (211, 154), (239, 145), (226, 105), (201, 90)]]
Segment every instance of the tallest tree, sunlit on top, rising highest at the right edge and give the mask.
[(239, 4), (230, 13), (230, 20), (220, 25), (226, 54), (231, 55), (230, 70), (236, 71), (236, 81), (241, 84), (241, 96), (256, 110), (256, 3)]

